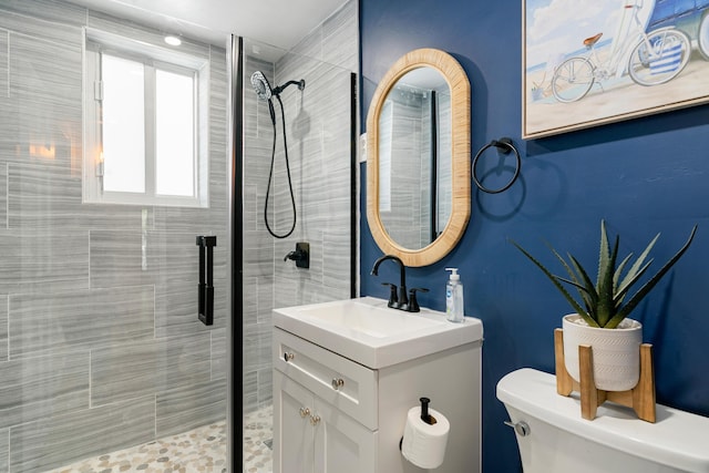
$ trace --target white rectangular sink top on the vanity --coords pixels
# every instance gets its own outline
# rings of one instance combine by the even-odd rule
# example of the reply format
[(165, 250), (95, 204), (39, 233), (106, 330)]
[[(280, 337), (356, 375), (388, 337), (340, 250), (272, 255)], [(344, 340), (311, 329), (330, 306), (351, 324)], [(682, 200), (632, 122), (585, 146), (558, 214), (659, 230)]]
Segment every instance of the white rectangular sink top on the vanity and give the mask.
[(373, 369), (477, 342), (483, 335), (479, 319), (451, 323), (442, 312), (404, 312), (372, 297), (275, 309), (274, 325)]

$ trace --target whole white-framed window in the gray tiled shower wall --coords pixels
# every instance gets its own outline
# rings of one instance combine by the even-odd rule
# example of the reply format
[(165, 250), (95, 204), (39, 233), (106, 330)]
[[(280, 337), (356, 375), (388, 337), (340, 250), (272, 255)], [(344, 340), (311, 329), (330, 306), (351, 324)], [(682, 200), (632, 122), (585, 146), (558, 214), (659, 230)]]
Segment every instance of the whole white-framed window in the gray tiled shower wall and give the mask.
[(86, 32), (84, 202), (205, 207), (206, 58)]

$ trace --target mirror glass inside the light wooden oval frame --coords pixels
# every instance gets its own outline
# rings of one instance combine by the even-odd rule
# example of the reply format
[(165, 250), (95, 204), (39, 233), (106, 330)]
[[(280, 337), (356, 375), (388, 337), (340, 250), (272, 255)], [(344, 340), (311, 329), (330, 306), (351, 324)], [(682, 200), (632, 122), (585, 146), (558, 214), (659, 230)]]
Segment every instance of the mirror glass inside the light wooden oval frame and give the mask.
[(451, 91), (433, 68), (417, 68), (389, 91), (379, 115), (379, 213), (400, 246), (421, 249), (452, 207)]

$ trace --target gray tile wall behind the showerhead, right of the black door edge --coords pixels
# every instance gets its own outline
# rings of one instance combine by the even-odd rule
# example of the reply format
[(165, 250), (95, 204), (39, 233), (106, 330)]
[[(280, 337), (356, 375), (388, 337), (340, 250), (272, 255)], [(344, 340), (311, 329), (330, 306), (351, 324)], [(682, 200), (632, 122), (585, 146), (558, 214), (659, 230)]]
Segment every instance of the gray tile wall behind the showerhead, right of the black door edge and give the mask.
[[(358, 70), (357, 1), (350, 0), (276, 62), (251, 54), (246, 79), (260, 70), (273, 86), (305, 79), (302, 92), (282, 94), (288, 155), (298, 212), (291, 236), (275, 239), (264, 224), (273, 125), (268, 106), (245, 93), (244, 186), (244, 410), (273, 399), (271, 309), (350, 297), (350, 72)], [(248, 83), (248, 82), (247, 82)], [(280, 109), (275, 101), (278, 142), (269, 223), (277, 233), (291, 225)], [(296, 241), (310, 244), (310, 268), (284, 257)]]

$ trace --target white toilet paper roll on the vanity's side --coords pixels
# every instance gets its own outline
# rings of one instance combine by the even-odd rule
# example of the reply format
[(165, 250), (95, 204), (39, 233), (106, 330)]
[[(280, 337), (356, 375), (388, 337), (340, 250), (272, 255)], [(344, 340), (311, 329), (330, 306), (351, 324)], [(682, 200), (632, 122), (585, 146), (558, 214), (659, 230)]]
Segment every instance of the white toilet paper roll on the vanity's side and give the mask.
[(411, 408), (401, 442), (403, 456), (421, 469), (441, 466), (451, 430), (451, 424), (442, 413), (429, 409), (429, 414), (435, 419), (432, 425), (421, 420), (421, 407)]

